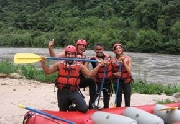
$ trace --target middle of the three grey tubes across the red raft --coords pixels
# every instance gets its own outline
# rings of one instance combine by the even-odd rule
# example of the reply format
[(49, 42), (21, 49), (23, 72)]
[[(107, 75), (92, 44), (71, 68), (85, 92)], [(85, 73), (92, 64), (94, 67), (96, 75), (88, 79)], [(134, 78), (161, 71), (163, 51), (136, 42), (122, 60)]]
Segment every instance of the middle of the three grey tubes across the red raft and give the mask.
[(123, 115), (136, 120), (138, 124), (164, 124), (160, 117), (135, 107), (127, 107)]

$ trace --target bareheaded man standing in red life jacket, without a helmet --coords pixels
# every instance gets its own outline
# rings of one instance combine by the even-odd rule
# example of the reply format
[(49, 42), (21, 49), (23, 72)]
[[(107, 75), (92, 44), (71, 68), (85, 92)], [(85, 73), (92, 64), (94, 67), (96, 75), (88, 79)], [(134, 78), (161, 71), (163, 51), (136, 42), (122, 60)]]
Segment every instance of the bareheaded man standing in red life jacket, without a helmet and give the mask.
[[(104, 50), (103, 45), (101, 43), (96, 43), (94, 46), (94, 51), (96, 53), (96, 56), (92, 57), (91, 60), (103, 59), (105, 61), (105, 66), (101, 66), (99, 68), (98, 73), (96, 74), (96, 76), (94, 76), (94, 80), (97, 84), (97, 97), (99, 97), (100, 92), (103, 91), (104, 108), (109, 108), (109, 100), (112, 91), (111, 90), (112, 64), (111, 64), (111, 57), (108, 54), (104, 54), (103, 50)], [(91, 63), (91, 64), (93, 68), (97, 66), (97, 63)]]

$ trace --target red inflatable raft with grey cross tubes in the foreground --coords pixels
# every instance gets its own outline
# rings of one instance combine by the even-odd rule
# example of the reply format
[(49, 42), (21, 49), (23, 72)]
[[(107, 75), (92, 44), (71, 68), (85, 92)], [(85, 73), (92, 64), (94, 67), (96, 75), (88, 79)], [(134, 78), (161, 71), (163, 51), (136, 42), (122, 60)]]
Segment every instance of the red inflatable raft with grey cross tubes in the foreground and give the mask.
[(165, 105), (116, 107), (89, 110), (85, 114), (30, 109), (24, 115), (23, 124), (178, 124), (180, 110), (171, 108), (179, 106), (180, 102)]

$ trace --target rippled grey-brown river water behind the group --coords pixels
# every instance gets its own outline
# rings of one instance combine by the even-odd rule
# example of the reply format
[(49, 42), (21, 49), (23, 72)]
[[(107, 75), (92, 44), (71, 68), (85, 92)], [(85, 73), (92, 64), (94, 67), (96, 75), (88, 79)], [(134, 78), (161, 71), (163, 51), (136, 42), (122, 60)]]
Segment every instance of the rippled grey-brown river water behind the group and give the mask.
[[(56, 53), (62, 51), (63, 49), (55, 49)], [(13, 61), (16, 53), (24, 52), (49, 56), (47, 48), (0, 48), (0, 61), (3, 59)], [(104, 52), (114, 56), (111, 51)], [(95, 55), (93, 50), (86, 50), (86, 54), (87, 56)], [(133, 52), (125, 52), (125, 54), (132, 57), (134, 79), (162, 84), (176, 83), (180, 86), (180, 55)], [(38, 63), (36, 64), (38, 65)]]

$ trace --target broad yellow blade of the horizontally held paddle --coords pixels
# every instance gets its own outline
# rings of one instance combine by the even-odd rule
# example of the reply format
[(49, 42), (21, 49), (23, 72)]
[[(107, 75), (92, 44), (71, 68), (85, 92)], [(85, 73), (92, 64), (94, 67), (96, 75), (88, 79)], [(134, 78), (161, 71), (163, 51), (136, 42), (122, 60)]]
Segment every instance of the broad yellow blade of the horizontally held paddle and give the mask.
[(14, 63), (34, 63), (40, 60), (41, 57), (34, 53), (16, 53), (14, 55)]

